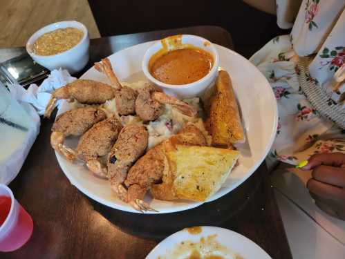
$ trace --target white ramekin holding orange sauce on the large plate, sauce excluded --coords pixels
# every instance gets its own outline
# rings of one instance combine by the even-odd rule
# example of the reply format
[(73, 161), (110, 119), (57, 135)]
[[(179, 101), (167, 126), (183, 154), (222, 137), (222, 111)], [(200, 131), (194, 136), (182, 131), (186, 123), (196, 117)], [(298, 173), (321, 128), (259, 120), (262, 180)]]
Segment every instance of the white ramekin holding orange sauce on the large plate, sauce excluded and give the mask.
[[(162, 40), (164, 41), (165, 39)], [(168, 43), (168, 41), (165, 42)], [(212, 69), (209, 71), (207, 75), (205, 75), (205, 77), (193, 83), (181, 85), (165, 84), (154, 78), (149, 72), (149, 61), (151, 57), (156, 52), (158, 52), (158, 50), (163, 48), (162, 41), (157, 41), (155, 44), (153, 44), (150, 48), (147, 49), (147, 51), (144, 54), (144, 57), (142, 58), (142, 71), (144, 72), (144, 75), (147, 77), (147, 79), (149, 79), (149, 81), (162, 88), (162, 90), (168, 95), (178, 98), (201, 96), (209, 86), (214, 84), (214, 81), (218, 75), (218, 52), (216, 48), (213, 46), (213, 44), (210, 43), (207, 39), (195, 35), (182, 35), (182, 44), (190, 44), (211, 53), (211, 55), (214, 58), (214, 64), (212, 66)], [(174, 46), (168, 46), (168, 48), (169, 50), (172, 50), (174, 49)]]

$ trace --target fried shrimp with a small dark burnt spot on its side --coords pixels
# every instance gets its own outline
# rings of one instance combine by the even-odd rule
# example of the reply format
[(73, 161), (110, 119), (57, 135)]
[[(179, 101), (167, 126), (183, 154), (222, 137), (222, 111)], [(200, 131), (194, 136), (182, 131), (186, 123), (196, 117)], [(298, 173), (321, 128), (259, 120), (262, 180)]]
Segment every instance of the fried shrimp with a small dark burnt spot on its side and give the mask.
[(147, 148), (149, 133), (144, 125), (129, 124), (122, 128), (118, 140), (111, 149), (108, 159), (108, 178), (111, 188), (119, 198), (125, 200), (119, 191), (127, 172)]

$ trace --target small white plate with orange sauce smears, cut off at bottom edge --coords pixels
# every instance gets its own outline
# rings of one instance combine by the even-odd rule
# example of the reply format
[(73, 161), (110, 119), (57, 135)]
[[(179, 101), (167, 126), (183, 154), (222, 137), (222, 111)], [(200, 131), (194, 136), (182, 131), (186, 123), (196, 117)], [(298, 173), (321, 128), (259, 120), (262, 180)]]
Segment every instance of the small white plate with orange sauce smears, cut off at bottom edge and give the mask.
[[(197, 231), (195, 231), (197, 230)], [(165, 238), (146, 259), (268, 259), (257, 244), (219, 227), (189, 227)]]

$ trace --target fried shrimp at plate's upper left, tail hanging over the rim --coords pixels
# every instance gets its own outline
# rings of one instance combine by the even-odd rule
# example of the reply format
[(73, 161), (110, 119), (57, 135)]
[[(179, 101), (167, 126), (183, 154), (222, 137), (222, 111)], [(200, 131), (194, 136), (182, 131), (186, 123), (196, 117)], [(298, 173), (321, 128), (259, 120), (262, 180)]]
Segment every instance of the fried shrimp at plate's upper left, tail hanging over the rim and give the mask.
[(88, 79), (77, 79), (71, 84), (55, 90), (50, 98), (44, 117), (50, 117), (57, 99), (76, 99), (82, 104), (104, 104), (115, 97), (115, 90), (104, 83)]

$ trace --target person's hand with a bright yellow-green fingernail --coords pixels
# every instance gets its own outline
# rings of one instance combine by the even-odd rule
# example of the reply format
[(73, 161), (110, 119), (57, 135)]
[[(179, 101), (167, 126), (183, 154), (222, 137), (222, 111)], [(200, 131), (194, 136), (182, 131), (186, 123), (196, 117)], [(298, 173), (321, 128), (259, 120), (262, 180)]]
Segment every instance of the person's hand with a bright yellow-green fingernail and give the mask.
[(313, 155), (302, 170), (313, 170), (307, 182), (317, 206), (334, 217), (345, 220), (345, 154)]

